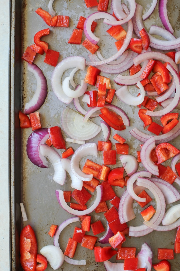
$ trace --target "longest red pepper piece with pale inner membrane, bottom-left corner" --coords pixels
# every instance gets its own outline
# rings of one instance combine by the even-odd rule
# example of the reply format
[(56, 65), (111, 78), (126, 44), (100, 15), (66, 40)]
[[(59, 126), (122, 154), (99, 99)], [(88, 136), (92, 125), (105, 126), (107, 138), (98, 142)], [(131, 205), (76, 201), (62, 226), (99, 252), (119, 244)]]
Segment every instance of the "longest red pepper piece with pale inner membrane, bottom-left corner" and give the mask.
[(20, 263), (25, 271), (35, 271), (37, 264), (37, 241), (35, 233), (30, 225), (24, 227), (19, 241)]

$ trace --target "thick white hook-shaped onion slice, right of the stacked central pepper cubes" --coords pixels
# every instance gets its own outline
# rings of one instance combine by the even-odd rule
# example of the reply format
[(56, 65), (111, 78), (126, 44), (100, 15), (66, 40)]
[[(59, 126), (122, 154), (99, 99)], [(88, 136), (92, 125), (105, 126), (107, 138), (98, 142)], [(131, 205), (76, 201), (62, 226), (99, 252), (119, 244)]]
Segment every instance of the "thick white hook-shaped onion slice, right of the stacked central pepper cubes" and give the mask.
[(141, 94), (137, 97), (133, 96), (128, 91), (127, 86), (122, 86), (115, 93), (117, 97), (125, 104), (134, 105), (134, 106), (139, 105), (139, 104), (142, 104), (142, 102), (144, 101), (145, 91), (140, 81), (137, 82), (137, 86), (140, 88), (140, 91), (141, 91)]

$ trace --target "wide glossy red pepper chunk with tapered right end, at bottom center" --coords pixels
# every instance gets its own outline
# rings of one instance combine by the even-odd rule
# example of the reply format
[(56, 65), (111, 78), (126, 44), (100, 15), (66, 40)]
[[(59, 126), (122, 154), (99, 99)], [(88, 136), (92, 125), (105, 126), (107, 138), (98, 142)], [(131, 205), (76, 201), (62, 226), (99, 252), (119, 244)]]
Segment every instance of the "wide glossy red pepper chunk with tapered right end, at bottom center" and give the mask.
[(111, 259), (117, 253), (112, 247), (94, 247), (95, 262), (104, 262)]

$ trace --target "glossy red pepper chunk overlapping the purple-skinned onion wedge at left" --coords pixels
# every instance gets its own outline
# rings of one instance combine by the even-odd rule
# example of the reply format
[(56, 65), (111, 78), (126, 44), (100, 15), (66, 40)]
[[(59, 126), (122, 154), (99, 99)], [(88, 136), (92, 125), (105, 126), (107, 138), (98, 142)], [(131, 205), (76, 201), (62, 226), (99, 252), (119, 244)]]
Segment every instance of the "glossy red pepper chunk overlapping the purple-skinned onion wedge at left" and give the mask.
[(66, 142), (58, 126), (48, 128), (49, 138), (56, 149), (66, 150)]

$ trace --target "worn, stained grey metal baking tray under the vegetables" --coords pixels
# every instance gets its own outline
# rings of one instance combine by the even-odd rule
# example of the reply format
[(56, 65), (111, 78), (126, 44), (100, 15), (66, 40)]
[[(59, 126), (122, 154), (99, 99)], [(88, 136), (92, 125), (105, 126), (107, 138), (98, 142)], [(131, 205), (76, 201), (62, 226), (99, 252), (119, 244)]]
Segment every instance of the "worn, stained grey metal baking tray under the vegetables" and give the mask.
[[(63, 187), (58, 185), (53, 181), (53, 167), (49, 169), (41, 169), (40, 167), (35, 166), (30, 162), (26, 154), (26, 142), (29, 135), (32, 133), (31, 129), (20, 130), (18, 112), (19, 109), (23, 111), (24, 105), (28, 102), (36, 89), (36, 80), (35, 77), (27, 70), (27, 63), (21, 60), (22, 53), (25, 51), (26, 47), (30, 44), (33, 44), (33, 37), (38, 31), (49, 28), (45, 22), (35, 13), (35, 10), (39, 7), (48, 11), (48, 0), (44, 1), (35, 1), (35, 0), (12, 0), (11, 2), (11, 92), (10, 92), (10, 149), (11, 149), (11, 159), (10, 159), (10, 174), (11, 174), (11, 186), (10, 186), (10, 199), (11, 199), (11, 269), (12, 270), (21, 270), (19, 264), (19, 234), (21, 229), (30, 224), (36, 234), (38, 242), (38, 252), (43, 246), (52, 245), (53, 238), (48, 235), (50, 226), (52, 224), (60, 225), (67, 218), (72, 217), (69, 213), (64, 211), (58, 204), (55, 189), (71, 190), (73, 189), (70, 186), (70, 178), (67, 175), (66, 183)], [(110, 1), (111, 2), (111, 1)], [(151, 1), (139, 1), (138, 3), (144, 6), (144, 11), (151, 5)], [(78, 19), (80, 16), (87, 17), (89, 14), (97, 11), (97, 8), (87, 9), (84, 0), (55, 0), (53, 8), (59, 15), (67, 15), (70, 17), (70, 27), (69, 28), (53, 28), (50, 27), (50, 34), (43, 38), (46, 42), (49, 43), (49, 48), (55, 51), (60, 52), (60, 57), (58, 62), (68, 56), (83, 56), (88, 59), (88, 51), (82, 45), (73, 45), (68, 44), (67, 41), (73, 31), (76, 28)], [(168, 16), (169, 20), (172, 23), (172, 27), (175, 29), (175, 36), (180, 36), (180, 19), (179, 19), (179, 9), (180, 3), (178, 0), (168, 1)], [(109, 12), (112, 12), (111, 5), (109, 4)], [(158, 9), (156, 8), (150, 18), (145, 22), (145, 26), (149, 30), (150, 25), (157, 24), (161, 26), (161, 22), (158, 15)], [(108, 30), (107, 25), (104, 25), (102, 20), (99, 20), (98, 26), (96, 28), (95, 34), (100, 37), (100, 51), (105, 58), (113, 55), (116, 52), (116, 47), (114, 45), (114, 39), (108, 36), (106, 30)], [(127, 29), (127, 25), (124, 25), (124, 28)], [(83, 34), (83, 39), (85, 36)], [(73, 103), (66, 105), (59, 101), (54, 92), (52, 91), (51, 86), (51, 76), (54, 70), (54, 67), (49, 66), (44, 63), (45, 55), (38, 55), (35, 58), (34, 63), (37, 64), (40, 69), (42, 69), (44, 75), (47, 78), (48, 83), (48, 95), (45, 103), (39, 109), (40, 119), (42, 127), (52, 127), (61, 125), (61, 115), (63, 109), (67, 106), (75, 110)], [(86, 75), (86, 69), (82, 72), (77, 72), (75, 76), (76, 83), (80, 82), (80, 79), (83, 79)], [(65, 73), (64, 76), (67, 76), (68, 73)], [(126, 72), (123, 73), (124, 75)], [(108, 74), (101, 72), (101, 75), (109, 77)], [(113, 79), (116, 75), (110, 76), (112, 88), (118, 89), (118, 85), (113, 82)], [(95, 89), (95, 87), (88, 86), (89, 90)], [(138, 89), (133, 86), (129, 88), (131, 93), (136, 95)], [(126, 138), (126, 142), (129, 144), (129, 153), (136, 156), (136, 151), (140, 150), (140, 141), (135, 140), (131, 137), (129, 131), (133, 127), (137, 127), (140, 130), (143, 130), (142, 122), (138, 118), (138, 108), (127, 106), (123, 102), (119, 101), (116, 97), (113, 99), (113, 104), (118, 105), (127, 112), (131, 127), (127, 127), (126, 130), (120, 132), (121, 136)], [(85, 109), (86, 106), (82, 103)], [(93, 122), (100, 124), (99, 118), (92, 119)], [(159, 119), (157, 120), (157, 122)], [(146, 130), (146, 129), (145, 129)], [(64, 138), (68, 137), (62, 131)], [(114, 130), (112, 131), (110, 140), (113, 143), (113, 149), (115, 149), (115, 141), (113, 140)], [(100, 132), (98, 136), (90, 140), (90, 142), (97, 143), (97, 140), (103, 140), (103, 134)], [(87, 141), (88, 142), (88, 141)], [(175, 147), (179, 147), (178, 139), (174, 140), (173, 144)], [(66, 143), (67, 147), (72, 146), (74, 150), (77, 149), (77, 144)], [(61, 150), (57, 150), (60, 154)], [(81, 160), (81, 166), (87, 158), (92, 159), (94, 162), (103, 163), (102, 153), (99, 152), (98, 157), (85, 157)], [(165, 164), (170, 164), (168, 163)], [(112, 166), (118, 167), (121, 166), (119, 157), (117, 156), (117, 164)], [(139, 170), (141, 170), (142, 164), (139, 164)], [(176, 186), (177, 187), (177, 186)], [(125, 189), (118, 187), (113, 187), (118, 196), (121, 196)], [(177, 187), (178, 188), (178, 187)], [(179, 189), (179, 188), (178, 188)], [(152, 205), (155, 206), (154, 196), (150, 193), (153, 198)], [(87, 204), (88, 206), (94, 201), (96, 197), (96, 192), (92, 195), (92, 199)], [(23, 202), (28, 221), (22, 222), (21, 213), (20, 213), (20, 202)], [(107, 202), (108, 207), (112, 205)], [(142, 217), (140, 215), (141, 209), (138, 208), (138, 204), (134, 203), (134, 211), (137, 217), (135, 220), (130, 221), (128, 225), (140, 225)], [(92, 213), (91, 222), (101, 220), (106, 229), (106, 219), (103, 214)], [(59, 238), (60, 248), (64, 252), (67, 241), (69, 237), (72, 237), (74, 226), (80, 226), (80, 223), (73, 223), (72, 225), (67, 226)], [(92, 231), (88, 234), (92, 235)], [(103, 235), (99, 234), (98, 237)], [(172, 230), (168, 233), (161, 233), (153, 231), (151, 234), (148, 234), (144, 237), (136, 238), (131, 237), (127, 238), (125, 246), (136, 247), (136, 252), (138, 253), (141, 249), (141, 245), (146, 241), (153, 251), (153, 263), (157, 262), (157, 248), (169, 248), (174, 249), (174, 240), (175, 240), (175, 230)], [(96, 246), (100, 244), (96, 243)], [(82, 260), (86, 259), (86, 266), (74, 266), (66, 262), (63, 263), (62, 267), (59, 270), (105, 270), (103, 263), (94, 262), (94, 253), (89, 249), (85, 249), (77, 245), (77, 250), (74, 256), (74, 259)], [(112, 262), (122, 262), (116, 261), (114, 256), (111, 259)], [(180, 267), (180, 257), (178, 254), (175, 254), (175, 259), (170, 261), (172, 264), (172, 270), (178, 271)], [(52, 270), (48, 264), (47, 271)]]

